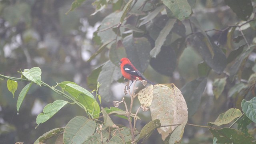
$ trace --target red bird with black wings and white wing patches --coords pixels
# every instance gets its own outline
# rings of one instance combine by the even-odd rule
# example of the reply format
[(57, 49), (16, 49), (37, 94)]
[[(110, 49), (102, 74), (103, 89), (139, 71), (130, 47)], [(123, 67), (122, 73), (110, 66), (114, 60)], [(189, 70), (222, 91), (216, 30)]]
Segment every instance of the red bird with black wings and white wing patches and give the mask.
[(130, 62), (128, 58), (122, 58), (119, 64), (121, 66), (121, 72), (124, 78), (131, 80), (132, 83), (134, 80), (136, 80), (136, 77), (138, 77), (139, 80), (146, 80), (148, 83), (154, 85), (153, 82), (150, 82), (148, 79), (146, 79), (145, 76), (143, 76), (143, 74), (141, 74), (140, 71), (135, 68), (135, 66)]

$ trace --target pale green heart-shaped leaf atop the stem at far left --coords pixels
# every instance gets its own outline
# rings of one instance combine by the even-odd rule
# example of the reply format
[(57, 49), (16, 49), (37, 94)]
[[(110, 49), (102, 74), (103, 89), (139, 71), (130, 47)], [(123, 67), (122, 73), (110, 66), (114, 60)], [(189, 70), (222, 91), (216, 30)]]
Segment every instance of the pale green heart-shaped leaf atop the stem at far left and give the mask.
[(28, 79), (31, 80), (32, 82), (38, 84), (41, 86), (41, 74), (42, 71), (38, 67), (34, 67), (31, 69), (25, 69), (22, 74)]

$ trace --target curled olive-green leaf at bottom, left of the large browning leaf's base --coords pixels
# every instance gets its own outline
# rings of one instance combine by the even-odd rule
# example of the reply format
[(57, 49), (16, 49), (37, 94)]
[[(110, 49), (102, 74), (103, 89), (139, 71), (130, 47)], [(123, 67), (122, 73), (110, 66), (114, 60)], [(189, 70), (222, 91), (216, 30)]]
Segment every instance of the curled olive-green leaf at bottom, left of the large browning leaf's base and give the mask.
[(160, 120), (152, 120), (148, 122), (140, 131), (140, 137), (138, 138), (138, 141), (142, 138), (147, 139), (151, 136), (152, 132), (161, 126)]

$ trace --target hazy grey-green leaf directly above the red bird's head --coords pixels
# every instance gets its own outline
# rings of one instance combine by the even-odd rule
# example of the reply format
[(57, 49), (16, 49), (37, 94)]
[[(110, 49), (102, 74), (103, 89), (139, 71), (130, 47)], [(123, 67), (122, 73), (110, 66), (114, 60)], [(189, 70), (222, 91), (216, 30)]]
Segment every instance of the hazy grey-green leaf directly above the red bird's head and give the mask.
[(122, 41), (119, 40), (117, 43), (113, 43), (109, 50), (109, 59), (110, 61), (119, 66), (121, 58), (126, 58), (126, 52)]

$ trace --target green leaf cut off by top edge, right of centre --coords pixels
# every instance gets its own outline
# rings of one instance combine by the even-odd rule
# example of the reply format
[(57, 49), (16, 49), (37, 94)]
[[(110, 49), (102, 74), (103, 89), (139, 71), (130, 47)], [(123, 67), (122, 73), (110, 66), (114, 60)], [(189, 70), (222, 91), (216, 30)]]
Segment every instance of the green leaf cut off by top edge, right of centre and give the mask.
[(187, 0), (162, 0), (180, 21), (188, 18), (192, 12)]

